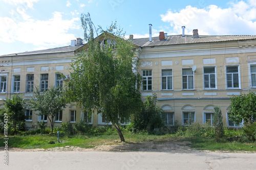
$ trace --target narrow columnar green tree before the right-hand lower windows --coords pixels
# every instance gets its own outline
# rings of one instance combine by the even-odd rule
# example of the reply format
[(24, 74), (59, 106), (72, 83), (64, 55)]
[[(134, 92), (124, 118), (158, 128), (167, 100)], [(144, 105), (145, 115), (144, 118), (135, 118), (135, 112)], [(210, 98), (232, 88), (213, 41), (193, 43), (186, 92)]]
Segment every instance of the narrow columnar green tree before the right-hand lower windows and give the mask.
[(214, 106), (214, 118), (212, 125), (215, 126), (215, 137), (217, 141), (219, 141), (224, 136), (222, 118), (221, 108), (219, 106)]

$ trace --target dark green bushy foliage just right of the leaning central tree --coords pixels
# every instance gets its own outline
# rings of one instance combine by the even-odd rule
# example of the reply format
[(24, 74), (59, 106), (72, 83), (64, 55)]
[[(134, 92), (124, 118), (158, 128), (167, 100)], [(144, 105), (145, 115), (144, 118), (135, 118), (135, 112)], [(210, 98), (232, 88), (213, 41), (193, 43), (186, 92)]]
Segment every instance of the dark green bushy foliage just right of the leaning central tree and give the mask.
[(146, 96), (146, 101), (143, 103), (142, 111), (134, 115), (133, 124), (134, 129), (146, 130), (147, 127), (150, 130), (154, 128), (163, 127), (162, 111), (156, 105), (157, 95)]

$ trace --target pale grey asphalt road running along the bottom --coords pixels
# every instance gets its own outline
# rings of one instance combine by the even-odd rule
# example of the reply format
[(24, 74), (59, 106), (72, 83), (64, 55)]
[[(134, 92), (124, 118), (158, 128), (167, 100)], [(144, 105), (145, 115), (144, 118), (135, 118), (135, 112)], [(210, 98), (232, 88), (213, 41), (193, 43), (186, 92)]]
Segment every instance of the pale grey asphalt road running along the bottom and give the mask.
[(256, 154), (205, 152), (0, 152), (0, 169), (256, 169)]

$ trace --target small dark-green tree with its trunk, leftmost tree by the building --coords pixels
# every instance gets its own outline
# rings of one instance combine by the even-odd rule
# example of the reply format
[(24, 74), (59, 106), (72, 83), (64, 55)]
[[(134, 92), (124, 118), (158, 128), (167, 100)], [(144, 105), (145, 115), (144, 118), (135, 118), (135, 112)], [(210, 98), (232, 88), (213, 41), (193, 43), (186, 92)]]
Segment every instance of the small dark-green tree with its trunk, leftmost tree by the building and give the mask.
[(5, 108), (3, 113), (8, 114), (8, 120), (13, 123), (14, 133), (16, 126), (25, 122), (25, 102), (18, 94), (12, 95), (12, 99), (5, 100)]

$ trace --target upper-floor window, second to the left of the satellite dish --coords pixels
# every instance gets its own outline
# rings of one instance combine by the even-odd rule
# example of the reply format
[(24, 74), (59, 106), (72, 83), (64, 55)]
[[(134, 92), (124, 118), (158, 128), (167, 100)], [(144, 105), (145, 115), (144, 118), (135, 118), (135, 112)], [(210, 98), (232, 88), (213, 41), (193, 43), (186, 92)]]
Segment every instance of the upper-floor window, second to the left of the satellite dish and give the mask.
[(162, 90), (173, 89), (173, 71), (172, 69), (162, 70)]

